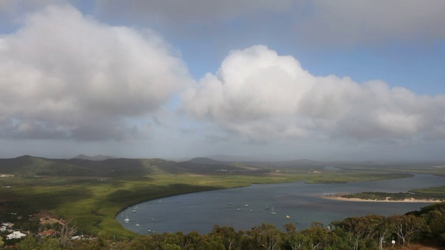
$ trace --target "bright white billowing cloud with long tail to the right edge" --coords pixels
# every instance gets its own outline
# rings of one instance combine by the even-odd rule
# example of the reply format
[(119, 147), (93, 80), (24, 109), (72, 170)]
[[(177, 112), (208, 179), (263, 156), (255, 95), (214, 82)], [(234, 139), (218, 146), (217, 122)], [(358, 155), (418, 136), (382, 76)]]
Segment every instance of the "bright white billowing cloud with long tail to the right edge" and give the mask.
[(265, 46), (232, 51), (183, 97), (190, 115), (252, 140), (445, 138), (445, 96), (314, 76)]

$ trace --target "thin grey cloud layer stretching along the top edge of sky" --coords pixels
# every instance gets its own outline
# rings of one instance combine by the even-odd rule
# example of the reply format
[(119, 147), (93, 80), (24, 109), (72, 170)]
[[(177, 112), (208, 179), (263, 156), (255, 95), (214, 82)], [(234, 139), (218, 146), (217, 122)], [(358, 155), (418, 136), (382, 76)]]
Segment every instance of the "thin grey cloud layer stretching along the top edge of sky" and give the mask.
[[(305, 42), (305, 46), (317, 48), (369, 46), (407, 39), (442, 40), (444, 10), (442, 0), (95, 1), (95, 11), (106, 19), (118, 17), (142, 25), (156, 24), (166, 31), (173, 28), (183, 38), (202, 34), (213, 37), (218, 35), (216, 29), (236, 29), (236, 25), (224, 24), (248, 19), (249, 35), (253, 31), (280, 34), (289, 44)], [(194, 28), (182, 33), (187, 25)], [(241, 39), (243, 33), (237, 35)]]

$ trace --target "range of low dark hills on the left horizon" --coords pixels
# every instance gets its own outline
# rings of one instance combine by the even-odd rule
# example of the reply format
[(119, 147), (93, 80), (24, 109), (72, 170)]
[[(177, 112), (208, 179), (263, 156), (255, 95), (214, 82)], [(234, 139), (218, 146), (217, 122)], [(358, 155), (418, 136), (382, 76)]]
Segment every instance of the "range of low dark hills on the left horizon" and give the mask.
[[(107, 156), (103, 156), (107, 157)], [(50, 159), (35, 156), (0, 159), (1, 174), (19, 176), (149, 176), (157, 173), (190, 174), (261, 174), (267, 169), (238, 167), (209, 158), (194, 158), (177, 163), (159, 158), (127, 159), (76, 156), (72, 159)], [(261, 170), (261, 171), (260, 171)]]

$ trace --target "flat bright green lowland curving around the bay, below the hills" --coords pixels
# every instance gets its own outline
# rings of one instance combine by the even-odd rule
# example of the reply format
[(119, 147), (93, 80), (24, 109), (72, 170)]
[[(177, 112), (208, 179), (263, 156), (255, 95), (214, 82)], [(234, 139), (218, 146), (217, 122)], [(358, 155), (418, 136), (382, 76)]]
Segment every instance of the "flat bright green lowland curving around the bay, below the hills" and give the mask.
[[(41, 161), (39, 164), (48, 165)], [(262, 169), (270, 169), (270, 171), (243, 174), (220, 174), (219, 172), (199, 174), (184, 172), (176, 165), (175, 171), (172, 171), (172, 168), (165, 168), (156, 165), (154, 161), (147, 161), (142, 164), (140, 169), (143, 170), (138, 172), (138, 176), (3, 177), (0, 178), (0, 185), (2, 187), (10, 186), (10, 188), (0, 189), (2, 212), (12, 213), (12, 209), (23, 206), (36, 208), (66, 221), (76, 222), (79, 231), (84, 234), (98, 235), (101, 233), (109, 238), (115, 235), (117, 239), (125, 240), (137, 235), (125, 230), (114, 218), (120, 213), (120, 210), (142, 201), (204, 190), (238, 188), (254, 183), (284, 183), (303, 180), (307, 183), (348, 183), (412, 176), (411, 174), (392, 173), (401, 172), (401, 169), (396, 168), (387, 172), (372, 167), (359, 166), (345, 167), (348, 171), (325, 170), (323, 167), (275, 169), (262, 166)], [(405, 170), (403, 172), (420, 172), (415, 168)], [(443, 169), (432, 170), (435, 171), (435, 174), (444, 174)], [(31, 167), (26, 167), (26, 171), (34, 170)], [(58, 171), (67, 172), (65, 169)], [(145, 174), (140, 174), (142, 171)], [(419, 192), (428, 192), (428, 190)], [(431, 192), (435, 192), (435, 190), (431, 190)], [(5, 206), (7, 204), (15, 205), (8, 207)]]

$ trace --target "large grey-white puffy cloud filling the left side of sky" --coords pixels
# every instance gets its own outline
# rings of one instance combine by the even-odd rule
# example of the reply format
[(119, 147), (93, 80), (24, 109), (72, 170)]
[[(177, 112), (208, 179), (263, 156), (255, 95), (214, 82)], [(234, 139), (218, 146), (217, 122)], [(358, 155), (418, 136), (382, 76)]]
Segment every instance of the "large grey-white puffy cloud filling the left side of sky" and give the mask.
[(50, 6), (0, 37), (0, 136), (120, 140), (191, 78), (152, 31)]

